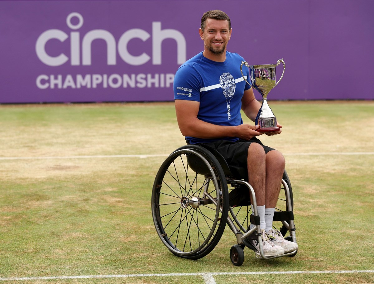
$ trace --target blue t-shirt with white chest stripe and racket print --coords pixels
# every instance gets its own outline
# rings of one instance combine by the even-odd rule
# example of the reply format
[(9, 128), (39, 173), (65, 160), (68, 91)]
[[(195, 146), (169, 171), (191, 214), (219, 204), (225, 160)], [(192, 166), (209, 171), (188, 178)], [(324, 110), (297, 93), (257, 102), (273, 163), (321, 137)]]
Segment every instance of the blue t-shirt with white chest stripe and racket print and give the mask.
[[(179, 67), (174, 77), (174, 100), (199, 101), (197, 118), (215, 125), (237, 126), (243, 124), (240, 109), (245, 90), (251, 88), (243, 79), (240, 64), (244, 59), (226, 51), (224, 62), (212, 61), (200, 52)], [(248, 68), (243, 68), (245, 79)], [(247, 79), (248, 80), (248, 79)], [(236, 141), (236, 137), (200, 139), (186, 137), (191, 144), (216, 140)]]

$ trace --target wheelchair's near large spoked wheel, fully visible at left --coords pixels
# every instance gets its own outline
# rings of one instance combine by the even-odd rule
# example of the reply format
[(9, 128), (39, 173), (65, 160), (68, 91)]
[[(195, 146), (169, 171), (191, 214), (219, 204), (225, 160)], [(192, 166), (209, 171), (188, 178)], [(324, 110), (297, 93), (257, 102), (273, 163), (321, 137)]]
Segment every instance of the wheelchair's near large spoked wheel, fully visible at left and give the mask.
[(175, 150), (157, 172), (152, 216), (157, 234), (176, 256), (200, 259), (220, 240), (229, 211), (226, 176), (200, 146)]

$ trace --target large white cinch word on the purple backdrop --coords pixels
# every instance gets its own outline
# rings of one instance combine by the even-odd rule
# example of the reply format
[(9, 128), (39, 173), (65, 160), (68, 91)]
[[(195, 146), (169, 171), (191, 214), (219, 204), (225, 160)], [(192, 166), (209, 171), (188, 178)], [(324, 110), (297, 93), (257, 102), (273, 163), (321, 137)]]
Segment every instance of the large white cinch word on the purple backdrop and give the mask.
[[(72, 24), (71, 19), (76, 17), (77, 24)], [(93, 40), (104, 40), (107, 46), (107, 64), (116, 65), (116, 54), (122, 60), (130, 65), (142, 65), (147, 63), (151, 57), (143, 52), (141, 55), (132, 55), (127, 49), (128, 42), (132, 39), (141, 39), (145, 42), (152, 36), (152, 64), (161, 64), (161, 44), (164, 39), (174, 39), (177, 42), (177, 64), (183, 64), (186, 61), (186, 39), (180, 31), (174, 29), (161, 30), (161, 22), (152, 22), (152, 34), (147, 31), (132, 28), (125, 31), (119, 38), (118, 42), (107, 30), (91, 30), (83, 36), (80, 40), (80, 32), (77, 31), (83, 25), (83, 16), (80, 13), (70, 13), (66, 18), (66, 24), (71, 28), (70, 32), (70, 64), (71, 65), (91, 65), (91, 43)], [(36, 40), (35, 50), (36, 55), (44, 64), (49, 66), (60, 66), (65, 64), (69, 58), (67, 55), (61, 53), (58, 56), (51, 56), (45, 50), (46, 43), (51, 39), (57, 39), (64, 42), (69, 38), (69, 35), (64, 31), (58, 29), (46, 30)], [(81, 48), (82, 45), (82, 48)], [(82, 50), (82, 54), (80, 52)], [(81, 60), (82, 57), (82, 60)]]

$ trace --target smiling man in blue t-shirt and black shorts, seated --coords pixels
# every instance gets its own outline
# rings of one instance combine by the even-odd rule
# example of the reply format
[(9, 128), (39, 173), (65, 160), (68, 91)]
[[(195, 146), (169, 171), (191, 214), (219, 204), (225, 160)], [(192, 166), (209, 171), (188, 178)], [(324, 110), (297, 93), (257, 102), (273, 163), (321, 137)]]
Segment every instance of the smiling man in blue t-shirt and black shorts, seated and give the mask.
[[(293, 251), (297, 244), (286, 241), (278, 230), (272, 229), (285, 159), (280, 152), (264, 146), (256, 138), (263, 134), (257, 131), (258, 126), (243, 124), (240, 109), (254, 121), (261, 104), (243, 80), (240, 64), (244, 59), (226, 51), (232, 34), (229, 16), (220, 10), (204, 13), (199, 34), (204, 51), (185, 62), (174, 78), (175, 111), (180, 131), (187, 143), (205, 143), (220, 152), (229, 165), (248, 167), (249, 183), (255, 190), (263, 230), (265, 256)], [(249, 71), (245, 73), (248, 78)], [(266, 134), (281, 132), (280, 129)], [(257, 240), (255, 234), (249, 238), (258, 248)]]

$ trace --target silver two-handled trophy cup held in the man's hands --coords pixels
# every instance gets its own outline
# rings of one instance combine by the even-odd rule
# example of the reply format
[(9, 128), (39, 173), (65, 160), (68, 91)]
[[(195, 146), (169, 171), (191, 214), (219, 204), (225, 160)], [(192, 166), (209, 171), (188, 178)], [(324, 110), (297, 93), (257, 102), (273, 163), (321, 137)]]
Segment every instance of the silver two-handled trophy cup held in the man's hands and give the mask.
[[(276, 82), (275, 77), (275, 67), (280, 63), (283, 64), (283, 72), (281, 78)], [(243, 74), (242, 67), (245, 65), (249, 68), (249, 83)], [(278, 85), (279, 81), (283, 78), (284, 70), (286, 65), (284, 64), (283, 58), (279, 59), (277, 64), (267, 64), (267, 65), (248, 65), (248, 62), (242, 61), (240, 65), (240, 72), (242, 73), (243, 79), (249, 84), (252, 88), (256, 89), (262, 95), (262, 105), (255, 120), (255, 125), (260, 125), (257, 129), (259, 132), (270, 132), (278, 131), (279, 127), (277, 126), (277, 119), (267, 104), (267, 94), (270, 90)]]

